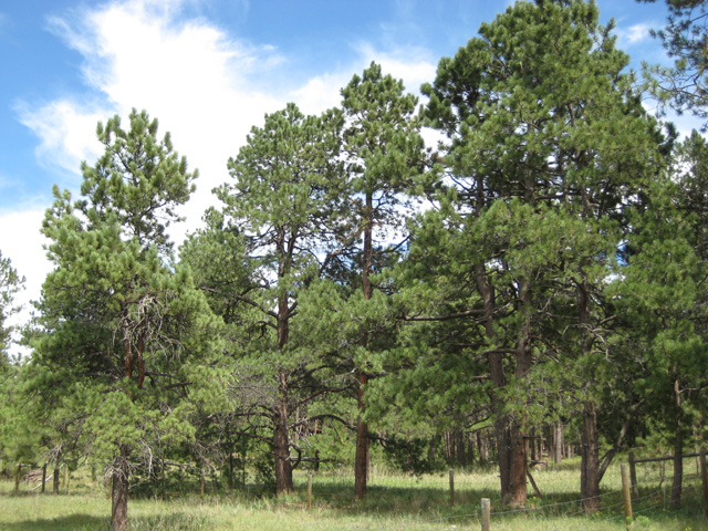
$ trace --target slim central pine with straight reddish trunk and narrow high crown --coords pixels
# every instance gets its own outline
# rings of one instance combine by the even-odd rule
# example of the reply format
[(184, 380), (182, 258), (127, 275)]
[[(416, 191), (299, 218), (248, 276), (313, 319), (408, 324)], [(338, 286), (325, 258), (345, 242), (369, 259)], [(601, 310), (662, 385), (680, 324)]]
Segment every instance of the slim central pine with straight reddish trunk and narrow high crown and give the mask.
[[(371, 300), (374, 262), (381, 261), (375, 253), (392, 252), (399, 243), (389, 232), (400, 227), (405, 219), (399, 207), (407, 202), (416, 177), (423, 173), (420, 123), (414, 116), (417, 98), (405, 94), (402, 81), (383, 75), (376, 63), (372, 63), (362, 76), (354, 75), (342, 88), (342, 96), (346, 117), (344, 153), (350, 185), (355, 194), (352, 225), (363, 235), (362, 289), (364, 299)], [(375, 233), (381, 240), (378, 244), (374, 241)], [(366, 362), (358, 364), (358, 408), (363, 413), (368, 375)], [(355, 499), (363, 499), (366, 493), (367, 467), (368, 426), (360, 415), (354, 464)]]

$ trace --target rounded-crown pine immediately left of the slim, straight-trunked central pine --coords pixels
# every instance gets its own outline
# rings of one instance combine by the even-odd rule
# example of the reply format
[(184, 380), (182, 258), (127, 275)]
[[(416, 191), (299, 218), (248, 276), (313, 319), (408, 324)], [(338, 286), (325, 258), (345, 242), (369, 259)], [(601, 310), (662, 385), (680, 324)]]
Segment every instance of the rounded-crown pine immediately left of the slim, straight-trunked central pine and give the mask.
[[(310, 396), (306, 382), (321, 368), (302, 339), (291, 334), (299, 294), (326, 267), (343, 222), (347, 194), (340, 159), (343, 118), (340, 112), (304, 116), (294, 104), (266, 116), (247, 144), (229, 160), (232, 184), (216, 189), (222, 215), (218, 226), (244, 241), (247, 277), (223, 285), (223, 299), (243, 315), (250, 334), (246, 346), (232, 345), (260, 391), (243, 393), (248, 408), (272, 426), (275, 491), (293, 489), (290, 456), (291, 416)], [(241, 266), (239, 264), (239, 268)], [(237, 285), (241, 284), (241, 285)], [(246, 382), (241, 382), (242, 388)], [(295, 389), (298, 395), (295, 395)]]

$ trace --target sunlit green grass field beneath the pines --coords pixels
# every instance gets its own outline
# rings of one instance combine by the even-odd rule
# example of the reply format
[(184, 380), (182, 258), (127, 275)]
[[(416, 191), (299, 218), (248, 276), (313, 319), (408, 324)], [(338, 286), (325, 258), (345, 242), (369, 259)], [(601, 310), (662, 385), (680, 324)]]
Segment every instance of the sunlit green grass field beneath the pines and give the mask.
[[(693, 472), (687, 461), (687, 472)], [(0, 482), (0, 530), (74, 531), (107, 530), (111, 502), (107, 489), (93, 483), (81, 470), (73, 472), (70, 493), (39, 494), (22, 483)], [(374, 469), (366, 500), (352, 500), (353, 478), (342, 472), (319, 472), (313, 479), (312, 507), (308, 508), (306, 475), (295, 471), (296, 492), (263, 496), (258, 486), (226, 492), (207, 483), (201, 499), (198, 485), (183, 485), (181, 492), (163, 499), (134, 496), (128, 502), (132, 530), (464, 530), (480, 529), (482, 498), (492, 501), (492, 531), (614, 531), (625, 530), (620, 467), (611, 468), (602, 483), (603, 509), (586, 517), (581, 508), (579, 462), (564, 461), (534, 472), (543, 497), (532, 496), (525, 511), (499, 506), (499, 480), (493, 470), (455, 475), (455, 506), (450, 507), (448, 473), (412, 478)], [(637, 470), (634, 530), (708, 531), (704, 519), (700, 481), (685, 482), (684, 509), (668, 509), (670, 478), (656, 467)], [(50, 486), (48, 485), (48, 490)], [(64, 491), (63, 491), (64, 492)]]

